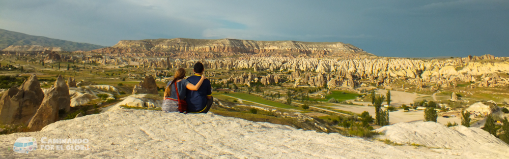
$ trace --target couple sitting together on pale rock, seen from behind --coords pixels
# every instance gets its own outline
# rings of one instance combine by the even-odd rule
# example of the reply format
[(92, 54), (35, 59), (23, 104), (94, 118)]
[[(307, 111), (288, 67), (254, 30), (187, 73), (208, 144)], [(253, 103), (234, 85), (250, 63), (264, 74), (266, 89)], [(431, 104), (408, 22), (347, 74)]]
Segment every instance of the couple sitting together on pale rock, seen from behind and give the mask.
[[(203, 72), (203, 64), (194, 64), (194, 75), (184, 79), (186, 71), (177, 69), (173, 81), (166, 85), (164, 90), (164, 101), (161, 110), (164, 112), (178, 112), (179, 103), (177, 99), (187, 103), (188, 113), (207, 113), (212, 106), (212, 87), (210, 80)], [(177, 94), (178, 91), (178, 94)]]

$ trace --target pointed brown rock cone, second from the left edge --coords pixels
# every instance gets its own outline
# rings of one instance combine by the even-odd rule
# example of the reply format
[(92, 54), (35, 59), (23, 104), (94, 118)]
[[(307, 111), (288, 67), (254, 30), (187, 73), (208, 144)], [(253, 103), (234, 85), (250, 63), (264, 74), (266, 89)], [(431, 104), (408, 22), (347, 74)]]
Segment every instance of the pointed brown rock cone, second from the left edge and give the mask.
[(30, 120), (28, 128), (31, 131), (39, 131), (44, 126), (59, 120), (59, 110), (70, 111), (71, 99), (69, 88), (64, 82), (62, 75), (56, 79), (55, 84), (49, 88), (41, 106)]

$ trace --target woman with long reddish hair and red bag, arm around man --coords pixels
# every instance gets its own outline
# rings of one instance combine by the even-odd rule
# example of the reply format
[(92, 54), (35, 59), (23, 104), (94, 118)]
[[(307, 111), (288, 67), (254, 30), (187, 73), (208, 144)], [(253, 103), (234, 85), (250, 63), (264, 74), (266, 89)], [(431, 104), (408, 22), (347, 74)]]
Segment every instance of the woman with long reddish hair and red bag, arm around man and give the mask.
[[(166, 89), (164, 90), (164, 101), (161, 108), (163, 112), (178, 112), (179, 103), (177, 101), (177, 97), (180, 97), (180, 100), (184, 100), (186, 98), (186, 88), (189, 90), (198, 90), (198, 88), (202, 85), (203, 80), (207, 79), (205, 76), (202, 76), (202, 79), (194, 85), (184, 79), (185, 76), (186, 71), (184, 69), (177, 69), (173, 81), (166, 85)], [(175, 86), (177, 86), (177, 89), (179, 90), (179, 96), (177, 96)]]

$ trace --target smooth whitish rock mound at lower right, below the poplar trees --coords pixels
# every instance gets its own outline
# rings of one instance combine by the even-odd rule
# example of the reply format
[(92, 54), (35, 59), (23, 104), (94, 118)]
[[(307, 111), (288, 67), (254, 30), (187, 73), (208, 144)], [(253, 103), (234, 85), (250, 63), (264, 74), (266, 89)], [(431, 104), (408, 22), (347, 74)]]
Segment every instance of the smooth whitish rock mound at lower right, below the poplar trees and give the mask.
[(479, 128), (462, 125), (447, 128), (436, 122), (400, 122), (376, 131), (384, 134), (379, 139), (389, 139), (394, 143), (446, 148), (452, 152), (491, 152), (497, 154), (496, 158), (509, 158), (509, 145)]

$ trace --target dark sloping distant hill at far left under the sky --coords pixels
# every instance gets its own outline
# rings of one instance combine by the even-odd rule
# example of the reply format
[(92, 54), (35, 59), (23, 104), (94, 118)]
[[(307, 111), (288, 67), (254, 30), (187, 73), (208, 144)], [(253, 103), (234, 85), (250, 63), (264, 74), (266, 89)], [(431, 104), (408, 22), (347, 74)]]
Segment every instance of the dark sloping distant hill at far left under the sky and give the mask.
[(60, 47), (64, 51), (76, 51), (76, 50), (89, 51), (104, 48), (104, 46), (100, 45), (94, 45), (89, 43), (76, 43), (66, 40), (51, 39), (40, 36), (31, 36), (23, 33), (0, 29), (0, 50), (6, 49), (11, 45), (18, 46), (18, 48), (23, 48), (22, 46), (24, 45), (30, 45), (24, 46), (29, 48), (32, 47), (33, 45), (55, 48)]

